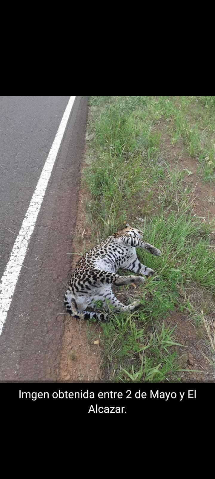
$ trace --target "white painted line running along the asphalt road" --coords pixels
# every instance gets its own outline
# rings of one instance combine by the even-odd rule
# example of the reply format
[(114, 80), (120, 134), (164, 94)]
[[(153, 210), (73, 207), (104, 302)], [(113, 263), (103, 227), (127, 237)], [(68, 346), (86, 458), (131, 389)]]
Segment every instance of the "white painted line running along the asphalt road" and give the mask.
[(52, 148), (50, 149), (48, 158), (43, 166), (43, 171), (35, 188), (31, 203), (23, 219), (20, 232), (13, 245), (9, 262), (0, 281), (0, 334), (3, 324), (7, 318), (7, 313), (10, 308), (16, 283), (21, 271), (21, 266), (23, 264), (28, 244), (35, 227), (36, 219), (43, 202), (45, 190), (52, 173), (54, 161), (56, 160), (57, 152), (64, 136), (65, 127), (67, 125), (74, 101), (75, 96), (71, 96), (54, 138)]

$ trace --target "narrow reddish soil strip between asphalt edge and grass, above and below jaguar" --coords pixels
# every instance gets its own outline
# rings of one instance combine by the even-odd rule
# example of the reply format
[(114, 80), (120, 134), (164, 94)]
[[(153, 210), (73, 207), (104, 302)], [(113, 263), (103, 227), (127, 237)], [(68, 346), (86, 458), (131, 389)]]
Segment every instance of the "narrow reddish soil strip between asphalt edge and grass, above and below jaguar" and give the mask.
[[(83, 165), (85, 166), (85, 165)], [(78, 213), (76, 221), (76, 235), (71, 242), (71, 271), (79, 259), (79, 254), (93, 248), (90, 242), (91, 231), (87, 226), (85, 201), (87, 192), (79, 190)], [(99, 340), (99, 326), (87, 321), (79, 321), (65, 315), (64, 337), (61, 353), (60, 378), (65, 381), (99, 381), (101, 379), (101, 349), (94, 341)]]

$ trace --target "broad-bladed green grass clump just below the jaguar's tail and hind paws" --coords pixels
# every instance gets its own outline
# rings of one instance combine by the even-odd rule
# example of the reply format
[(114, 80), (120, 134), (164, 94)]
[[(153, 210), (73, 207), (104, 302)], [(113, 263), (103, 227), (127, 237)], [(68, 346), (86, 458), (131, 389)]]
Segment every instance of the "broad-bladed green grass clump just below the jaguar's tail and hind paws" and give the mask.
[(137, 329), (132, 316), (126, 320), (119, 316), (102, 325), (103, 360), (108, 370), (111, 367), (118, 371), (121, 365), (116, 380), (123, 382), (160, 381), (166, 377), (178, 380), (177, 354), (170, 350), (178, 345), (173, 334), (174, 329), (165, 328), (164, 323), (160, 331), (146, 332), (146, 328)]

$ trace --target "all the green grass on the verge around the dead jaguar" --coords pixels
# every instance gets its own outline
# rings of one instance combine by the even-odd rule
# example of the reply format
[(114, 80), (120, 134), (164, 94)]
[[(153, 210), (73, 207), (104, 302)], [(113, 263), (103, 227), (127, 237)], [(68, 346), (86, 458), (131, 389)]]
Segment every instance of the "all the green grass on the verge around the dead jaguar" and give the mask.
[[(161, 117), (168, 119), (172, 145), (182, 138), (188, 154), (199, 158), (205, 181), (212, 180), (214, 99), (90, 99), (91, 139), (84, 184), (90, 192), (86, 213), (92, 242), (99, 243), (123, 228), (125, 221), (130, 224), (131, 218), (132, 224), (143, 230), (144, 239), (162, 252), (161, 257), (154, 257), (138, 250), (140, 261), (158, 272), (159, 281), (150, 278), (132, 293), (141, 300), (138, 312), (128, 316), (110, 311), (110, 322), (101, 327), (103, 366), (111, 380), (178, 380), (183, 361), (172, 350), (175, 331), (165, 327), (165, 318), (171, 311), (185, 310), (199, 327), (202, 315), (187, 299), (187, 291), (196, 285), (210, 297), (214, 295), (215, 249), (211, 234), (215, 223), (193, 215), (194, 189), (184, 184), (185, 176), (191, 172), (171, 169), (166, 161), (160, 164), (161, 133), (154, 129)], [(198, 121), (194, 120), (196, 108), (201, 110)], [(208, 130), (204, 142), (202, 127)], [(137, 217), (144, 222), (138, 222)]]

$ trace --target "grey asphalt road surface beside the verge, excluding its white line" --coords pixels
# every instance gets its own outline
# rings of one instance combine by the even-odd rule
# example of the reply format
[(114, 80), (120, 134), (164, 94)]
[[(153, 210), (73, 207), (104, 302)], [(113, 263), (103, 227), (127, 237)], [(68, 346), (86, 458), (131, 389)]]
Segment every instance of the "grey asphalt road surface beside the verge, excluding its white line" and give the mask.
[[(0, 97), (0, 278), (69, 96)], [(86, 96), (76, 96), (0, 336), (0, 380), (57, 380)]]

